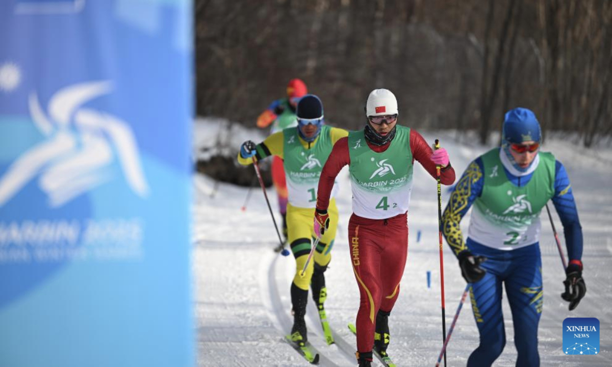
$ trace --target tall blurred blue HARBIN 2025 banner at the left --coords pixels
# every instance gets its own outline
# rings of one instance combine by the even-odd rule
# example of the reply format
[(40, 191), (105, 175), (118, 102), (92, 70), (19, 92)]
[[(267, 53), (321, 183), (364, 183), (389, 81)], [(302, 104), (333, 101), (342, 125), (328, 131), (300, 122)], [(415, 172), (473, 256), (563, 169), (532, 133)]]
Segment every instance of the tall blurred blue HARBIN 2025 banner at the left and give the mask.
[(0, 366), (190, 366), (192, 2), (0, 2)]

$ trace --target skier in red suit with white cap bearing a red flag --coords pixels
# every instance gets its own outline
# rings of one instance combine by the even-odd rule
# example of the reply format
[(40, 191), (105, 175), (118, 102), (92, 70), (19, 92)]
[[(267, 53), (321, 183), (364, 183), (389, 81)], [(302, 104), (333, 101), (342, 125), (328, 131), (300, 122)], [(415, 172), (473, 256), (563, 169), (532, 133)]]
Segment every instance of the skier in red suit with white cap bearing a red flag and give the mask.
[(407, 214), (414, 160), (432, 177), (436, 177), (436, 165), (441, 165), (442, 184), (455, 181), (446, 149), (432, 152), (419, 133), (397, 125), (397, 100), (392, 92), (372, 91), (366, 116), (363, 130), (349, 132), (348, 138), (334, 145), (319, 179), (315, 212), (315, 232), (324, 232), (334, 179), (349, 165), (353, 215), (348, 237), (361, 298), (356, 321), (359, 366), (370, 366), (373, 347), (386, 357), (388, 317), (400, 292), (408, 256)]

